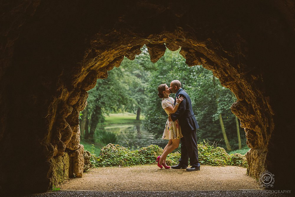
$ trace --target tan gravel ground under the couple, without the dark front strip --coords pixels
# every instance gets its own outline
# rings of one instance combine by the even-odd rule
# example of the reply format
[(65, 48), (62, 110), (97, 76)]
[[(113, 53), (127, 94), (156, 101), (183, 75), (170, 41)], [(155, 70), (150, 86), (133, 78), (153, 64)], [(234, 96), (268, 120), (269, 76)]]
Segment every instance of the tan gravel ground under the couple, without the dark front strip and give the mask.
[(60, 185), (64, 190), (191, 191), (259, 189), (259, 184), (237, 166), (201, 165), (200, 171), (163, 169), (157, 165), (101, 167)]

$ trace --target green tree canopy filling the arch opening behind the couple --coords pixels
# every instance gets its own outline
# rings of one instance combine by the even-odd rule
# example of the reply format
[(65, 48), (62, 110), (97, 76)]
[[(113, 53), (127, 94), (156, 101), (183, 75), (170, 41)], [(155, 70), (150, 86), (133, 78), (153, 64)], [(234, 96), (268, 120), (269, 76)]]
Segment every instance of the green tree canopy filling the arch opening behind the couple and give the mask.
[[(144, 114), (145, 129), (160, 137), (167, 114), (157, 95), (158, 86), (163, 83), (169, 86), (172, 80), (178, 79), (191, 97), (200, 126), (197, 130), (198, 141), (208, 139), (217, 142), (224, 139), (219, 145), (227, 149), (237, 148), (237, 132), (240, 133), (242, 129), (237, 131), (238, 122), (230, 111), (234, 95), (221, 86), (212, 71), (201, 65), (189, 67), (185, 61), (179, 51), (167, 49), (165, 55), (153, 64), (145, 46), (134, 61), (124, 58), (119, 68), (109, 71), (107, 79), (98, 79), (96, 87), (89, 91), (87, 117), (82, 116), (82, 120), (89, 120), (87, 127), (90, 130), (83, 127), (82, 133), (86, 130), (88, 133), (94, 132), (108, 113), (127, 111), (137, 113), (138, 119), (140, 113)], [(174, 94), (170, 96), (175, 97)], [(241, 134), (241, 141), (245, 144), (245, 135), (243, 132)]]

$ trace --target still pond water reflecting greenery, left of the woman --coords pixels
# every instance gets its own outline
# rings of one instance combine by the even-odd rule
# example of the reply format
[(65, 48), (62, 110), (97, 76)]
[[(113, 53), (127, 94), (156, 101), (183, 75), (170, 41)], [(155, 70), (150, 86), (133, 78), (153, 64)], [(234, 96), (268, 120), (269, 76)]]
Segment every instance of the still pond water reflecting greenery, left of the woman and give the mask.
[(162, 148), (166, 146), (168, 140), (156, 139), (152, 133), (149, 133), (141, 124), (121, 124), (104, 127), (105, 131), (113, 132), (117, 136), (117, 144), (134, 149), (151, 144), (158, 145)]

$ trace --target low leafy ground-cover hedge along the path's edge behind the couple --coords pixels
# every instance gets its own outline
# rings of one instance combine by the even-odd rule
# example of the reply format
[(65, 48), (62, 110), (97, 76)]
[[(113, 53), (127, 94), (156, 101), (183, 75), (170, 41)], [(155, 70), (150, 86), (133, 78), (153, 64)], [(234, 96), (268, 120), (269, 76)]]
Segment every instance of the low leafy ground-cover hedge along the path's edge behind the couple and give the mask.
[[(198, 144), (199, 162), (203, 165), (224, 166), (236, 165), (247, 167), (245, 156), (236, 154), (227, 154), (224, 148), (211, 146), (207, 142)], [(94, 152), (94, 151), (92, 151)], [(91, 164), (94, 167), (110, 166), (131, 166), (153, 164), (157, 156), (163, 153), (163, 149), (157, 145), (150, 145), (140, 149), (130, 149), (118, 144), (108, 144), (101, 148), (99, 157), (91, 152)], [(180, 152), (171, 153), (167, 156), (167, 165), (176, 165), (181, 157)]]

